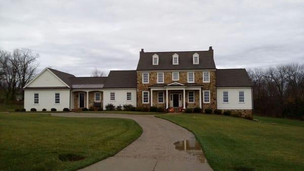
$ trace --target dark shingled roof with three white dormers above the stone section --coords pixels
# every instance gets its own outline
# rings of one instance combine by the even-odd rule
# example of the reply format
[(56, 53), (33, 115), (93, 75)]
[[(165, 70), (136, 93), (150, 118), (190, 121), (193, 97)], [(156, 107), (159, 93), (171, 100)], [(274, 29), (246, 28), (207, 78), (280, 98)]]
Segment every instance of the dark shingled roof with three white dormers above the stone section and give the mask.
[[(178, 64), (172, 64), (172, 56), (178, 54)], [(199, 64), (193, 64), (193, 54), (199, 54)], [(158, 65), (153, 65), (153, 55), (159, 56)], [(213, 50), (208, 51), (174, 51), (174, 52), (140, 52), (137, 70), (202, 70), (215, 69)]]

